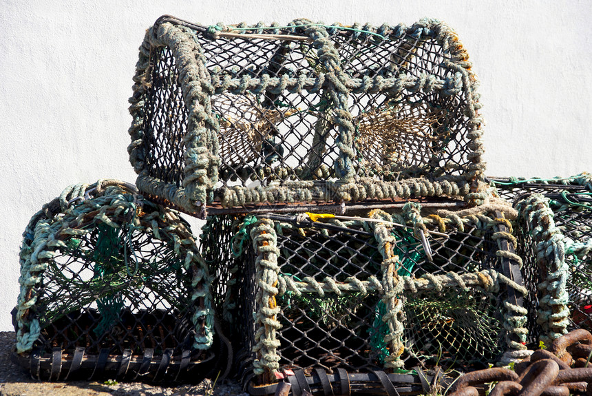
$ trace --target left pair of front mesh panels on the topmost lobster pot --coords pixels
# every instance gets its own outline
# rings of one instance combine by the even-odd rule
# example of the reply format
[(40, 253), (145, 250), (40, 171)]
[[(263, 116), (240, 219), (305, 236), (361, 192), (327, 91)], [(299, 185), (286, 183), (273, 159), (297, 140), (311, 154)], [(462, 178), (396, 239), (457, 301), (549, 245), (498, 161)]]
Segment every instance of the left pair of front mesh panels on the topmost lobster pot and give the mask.
[[(287, 30), (284, 34), (288, 34)], [(322, 68), (317, 50), (310, 43), (249, 39), (248, 34), (244, 39), (215, 41), (200, 36), (199, 42), (208, 70), (220, 79), (225, 75), (240, 79), (263, 74), (311, 77)], [(229, 105), (224, 106), (224, 96), (233, 98)], [(228, 182), (249, 186), (273, 180), (310, 180), (321, 165), (332, 169), (337, 157), (337, 132), (326, 114), (329, 103), (328, 94), (306, 90), (257, 96), (216, 92), (212, 96), (213, 111), (219, 120), (230, 118), (233, 124), (218, 134), (222, 163), (217, 187), (226, 187)], [(241, 123), (248, 131), (236, 127)], [(320, 140), (313, 137), (317, 124), (322, 129)], [(323, 151), (320, 146), (326, 155), (313, 155), (315, 150)], [(303, 169), (296, 174), (299, 165)], [(264, 174), (262, 169), (266, 169)]]

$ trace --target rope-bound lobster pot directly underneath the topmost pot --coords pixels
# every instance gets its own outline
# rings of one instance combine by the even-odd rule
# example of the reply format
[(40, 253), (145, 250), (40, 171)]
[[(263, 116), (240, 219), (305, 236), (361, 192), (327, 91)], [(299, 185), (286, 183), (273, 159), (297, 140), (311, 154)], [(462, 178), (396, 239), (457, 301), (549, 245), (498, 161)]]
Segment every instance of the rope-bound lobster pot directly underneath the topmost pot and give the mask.
[[(368, 215), (409, 228), (301, 216), (249, 216), (234, 225), (209, 218), (235, 235), (236, 258), (218, 260), (233, 273), (223, 309), (235, 312), (237, 362), (244, 382), (255, 375), (251, 393), (271, 389), (265, 386), (289, 376), (286, 370), (302, 370), (317, 385), (319, 376), (334, 375), (339, 386), (343, 373), (359, 379), (352, 373), (438, 364), (469, 370), (525, 348), (525, 291), (503, 214), (410, 216)], [(445, 238), (430, 234), (438, 229)]]

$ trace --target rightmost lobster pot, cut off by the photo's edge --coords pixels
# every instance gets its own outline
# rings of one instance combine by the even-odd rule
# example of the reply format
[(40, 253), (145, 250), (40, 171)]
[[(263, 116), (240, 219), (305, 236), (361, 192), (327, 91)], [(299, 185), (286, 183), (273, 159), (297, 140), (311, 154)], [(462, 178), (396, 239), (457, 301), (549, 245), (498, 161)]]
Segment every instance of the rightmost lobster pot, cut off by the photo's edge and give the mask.
[(533, 300), (529, 317), (536, 318), (528, 327), (545, 344), (571, 329), (592, 328), (591, 182), (589, 174), (494, 180), (520, 211), (519, 250)]

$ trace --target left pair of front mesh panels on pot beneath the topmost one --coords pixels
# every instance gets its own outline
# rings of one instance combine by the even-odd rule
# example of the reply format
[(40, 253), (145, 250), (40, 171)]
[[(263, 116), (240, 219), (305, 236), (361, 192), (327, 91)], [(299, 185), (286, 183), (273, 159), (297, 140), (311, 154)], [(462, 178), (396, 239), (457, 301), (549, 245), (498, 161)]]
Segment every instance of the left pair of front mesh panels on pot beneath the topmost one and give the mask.
[[(343, 282), (349, 276), (366, 280), (369, 275), (380, 273), (381, 255), (367, 235), (346, 231), (326, 238), (320, 231), (306, 231), (305, 238), (293, 231), (279, 236), (280, 276), (295, 280), (310, 276), (317, 281), (330, 276)], [(286, 292), (277, 301), (282, 306), (280, 364), (319, 366), (330, 372), (337, 366), (349, 371), (376, 368), (377, 351), (373, 351), (369, 340), (377, 332), (373, 322), (378, 300), (378, 295), (360, 293), (298, 297)]]

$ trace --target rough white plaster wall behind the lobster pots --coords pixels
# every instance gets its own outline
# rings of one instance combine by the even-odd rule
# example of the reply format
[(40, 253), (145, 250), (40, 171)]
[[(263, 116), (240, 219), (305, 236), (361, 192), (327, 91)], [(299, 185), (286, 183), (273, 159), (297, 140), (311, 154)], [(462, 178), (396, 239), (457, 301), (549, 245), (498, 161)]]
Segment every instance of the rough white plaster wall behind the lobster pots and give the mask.
[(72, 183), (133, 182), (127, 98), (145, 29), (161, 14), (203, 24), (315, 21), (456, 29), (482, 81), (488, 174), (592, 170), (590, 1), (0, 1), (0, 331), (18, 295), (30, 216)]

